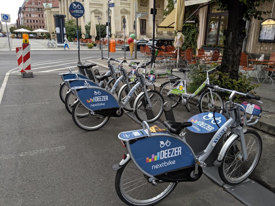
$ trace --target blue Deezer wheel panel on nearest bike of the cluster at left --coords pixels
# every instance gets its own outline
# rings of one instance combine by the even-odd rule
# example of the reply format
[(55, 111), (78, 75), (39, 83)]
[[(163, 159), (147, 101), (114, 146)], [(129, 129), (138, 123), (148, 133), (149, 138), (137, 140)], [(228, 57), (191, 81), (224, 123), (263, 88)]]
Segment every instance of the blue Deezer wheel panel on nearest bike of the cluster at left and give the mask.
[(119, 108), (115, 97), (100, 87), (80, 89), (76, 93), (80, 102), (90, 110)]

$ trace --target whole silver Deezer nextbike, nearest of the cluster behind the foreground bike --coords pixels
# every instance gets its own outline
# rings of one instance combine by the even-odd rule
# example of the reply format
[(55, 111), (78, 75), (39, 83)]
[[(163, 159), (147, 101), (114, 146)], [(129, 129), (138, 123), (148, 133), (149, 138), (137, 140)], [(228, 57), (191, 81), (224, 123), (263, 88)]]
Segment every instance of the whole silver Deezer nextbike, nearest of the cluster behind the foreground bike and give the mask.
[[(160, 118), (163, 112), (164, 100), (161, 94), (155, 90), (147, 90), (146, 86), (154, 84), (155, 76), (148, 75), (148, 79), (138, 72), (140, 68), (145, 68), (145, 65), (134, 66), (137, 70), (137, 82), (131, 87), (129, 92), (125, 93), (124, 85), (119, 90), (119, 96), (124, 92), (118, 101), (117, 96), (111, 94), (108, 90), (100, 87), (85, 86), (72, 87), (79, 102), (75, 103), (72, 109), (72, 118), (74, 123), (81, 129), (87, 131), (98, 130), (103, 127), (110, 117), (120, 117), (123, 114), (123, 109), (127, 107), (133, 108), (133, 113), (141, 122), (146, 120), (154, 122)], [(135, 96), (135, 91), (140, 88), (141, 92)]]

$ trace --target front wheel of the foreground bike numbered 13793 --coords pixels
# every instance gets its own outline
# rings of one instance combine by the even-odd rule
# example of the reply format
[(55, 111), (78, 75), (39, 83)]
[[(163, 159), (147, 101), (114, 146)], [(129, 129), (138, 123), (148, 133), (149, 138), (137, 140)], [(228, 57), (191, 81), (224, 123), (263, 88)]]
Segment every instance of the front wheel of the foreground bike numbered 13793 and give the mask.
[(242, 160), (240, 138), (229, 146), (219, 167), (219, 176), (229, 185), (243, 182), (256, 168), (262, 155), (262, 139), (258, 132), (248, 129), (244, 133), (247, 160)]

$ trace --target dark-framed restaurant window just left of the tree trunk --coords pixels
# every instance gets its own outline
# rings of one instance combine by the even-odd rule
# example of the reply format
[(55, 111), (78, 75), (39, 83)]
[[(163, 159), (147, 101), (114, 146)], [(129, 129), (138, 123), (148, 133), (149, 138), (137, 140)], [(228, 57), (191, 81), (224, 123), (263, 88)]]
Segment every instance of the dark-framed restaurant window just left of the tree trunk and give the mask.
[(228, 11), (220, 11), (215, 4), (208, 6), (205, 44), (223, 45), (227, 34)]

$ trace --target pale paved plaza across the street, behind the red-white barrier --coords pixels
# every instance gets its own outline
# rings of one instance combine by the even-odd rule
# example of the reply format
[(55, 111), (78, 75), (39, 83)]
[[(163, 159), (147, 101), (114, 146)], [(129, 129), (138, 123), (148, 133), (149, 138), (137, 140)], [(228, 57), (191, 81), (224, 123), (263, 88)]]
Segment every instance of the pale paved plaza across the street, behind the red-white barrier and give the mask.
[[(55, 47), (55, 48), (48, 48), (47, 43), (48, 39), (29, 39), (30, 45), (31, 45), (31, 51), (60, 51), (64, 50), (63, 47)], [(15, 51), (16, 47), (21, 47), (22, 45), (22, 39), (11, 39), (9, 38), (10, 45), (11, 45), (11, 51)], [(0, 51), (9, 51), (9, 41), (7, 37), (1, 37), (0, 38)], [(70, 50), (78, 50), (77, 44), (74, 44), (73, 42), (69, 43)], [(67, 48), (68, 49), (68, 48)], [(87, 46), (80, 45), (80, 50), (90, 50), (93, 51), (95, 49), (98, 49), (98, 47), (94, 47), (93, 49), (88, 49)], [(103, 50), (107, 50), (103, 49)]]

